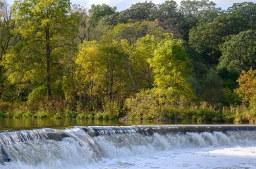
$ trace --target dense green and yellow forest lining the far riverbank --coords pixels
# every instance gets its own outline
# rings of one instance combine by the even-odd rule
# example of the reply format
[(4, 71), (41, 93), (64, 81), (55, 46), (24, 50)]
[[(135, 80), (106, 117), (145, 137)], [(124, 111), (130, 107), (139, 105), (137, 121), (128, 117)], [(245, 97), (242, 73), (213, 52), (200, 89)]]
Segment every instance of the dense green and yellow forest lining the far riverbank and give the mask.
[(256, 119), (256, 3), (0, 0), (0, 117)]

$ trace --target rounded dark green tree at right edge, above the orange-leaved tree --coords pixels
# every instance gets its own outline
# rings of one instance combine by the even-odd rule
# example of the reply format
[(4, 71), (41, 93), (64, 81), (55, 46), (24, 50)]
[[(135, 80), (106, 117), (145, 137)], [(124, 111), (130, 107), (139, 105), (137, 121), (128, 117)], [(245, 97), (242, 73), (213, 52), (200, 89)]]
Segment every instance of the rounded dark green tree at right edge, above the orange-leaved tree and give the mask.
[(241, 32), (226, 41), (221, 48), (219, 68), (228, 70), (249, 70), (256, 68), (256, 32), (248, 30)]

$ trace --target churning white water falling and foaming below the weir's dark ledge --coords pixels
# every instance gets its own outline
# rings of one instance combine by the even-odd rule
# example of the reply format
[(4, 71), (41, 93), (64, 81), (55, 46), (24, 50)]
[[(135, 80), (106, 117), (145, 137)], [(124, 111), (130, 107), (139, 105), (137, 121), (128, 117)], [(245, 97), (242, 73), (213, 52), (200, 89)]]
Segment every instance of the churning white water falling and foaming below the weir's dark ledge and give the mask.
[(256, 131), (98, 137), (67, 131), (72, 137), (61, 142), (36, 139), (5, 146), (12, 160), (0, 168), (256, 168)]

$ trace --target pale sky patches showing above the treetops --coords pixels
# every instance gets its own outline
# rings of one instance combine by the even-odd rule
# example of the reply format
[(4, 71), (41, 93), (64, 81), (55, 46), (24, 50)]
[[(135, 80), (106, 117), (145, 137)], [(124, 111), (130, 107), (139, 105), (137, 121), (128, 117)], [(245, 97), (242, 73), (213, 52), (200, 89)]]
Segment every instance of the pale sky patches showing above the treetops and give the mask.
[[(122, 11), (123, 9), (128, 9), (131, 4), (135, 4), (138, 2), (144, 2), (146, 0), (71, 0), (71, 3), (73, 4), (80, 4), (86, 6), (88, 9), (90, 9), (90, 6), (92, 4), (102, 4), (106, 3), (107, 5), (110, 5), (111, 7), (117, 7), (118, 11)], [(150, 1), (150, 0), (148, 0)], [(153, 3), (164, 3), (166, 0), (152, 0)], [(181, 2), (181, 0), (174, 0), (178, 4)], [(222, 9), (227, 9), (228, 7), (232, 6), (233, 3), (241, 3), (244, 1), (250, 1), (256, 3), (256, 0), (212, 0), (214, 1), (218, 7), (221, 7)], [(13, 0), (7, 0), (7, 3), (12, 5)]]

